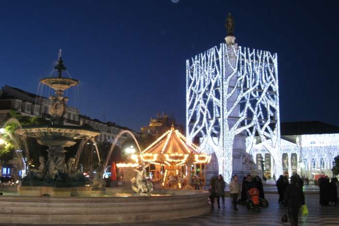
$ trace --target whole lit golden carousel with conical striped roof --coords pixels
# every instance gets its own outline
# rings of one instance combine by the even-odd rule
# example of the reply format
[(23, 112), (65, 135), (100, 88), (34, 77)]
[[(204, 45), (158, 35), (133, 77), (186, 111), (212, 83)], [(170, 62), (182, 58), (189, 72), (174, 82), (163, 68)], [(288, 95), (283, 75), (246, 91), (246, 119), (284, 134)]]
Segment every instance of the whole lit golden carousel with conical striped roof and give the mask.
[(142, 151), (139, 159), (147, 163), (155, 188), (199, 189), (205, 185), (205, 166), (211, 156), (198, 151), (172, 126)]

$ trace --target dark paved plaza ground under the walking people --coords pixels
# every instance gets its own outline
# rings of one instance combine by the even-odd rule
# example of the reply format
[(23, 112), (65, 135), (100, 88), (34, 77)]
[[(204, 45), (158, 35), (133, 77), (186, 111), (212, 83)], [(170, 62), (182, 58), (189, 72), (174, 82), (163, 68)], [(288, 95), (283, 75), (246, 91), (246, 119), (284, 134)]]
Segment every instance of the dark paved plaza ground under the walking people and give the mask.
[[(318, 194), (306, 194), (306, 203), (309, 214), (299, 216), (300, 226), (330, 226), (339, 225), (339, 207), (321, 207)], [(114, 226), (288, 226), (290, 223), (282, 223), (281, 216), (284, 208), (278, 205), (277, 194), (267, 194), (269, 202), (267, 208), (261, 211), (247, 210), (245, 206), (239, 205), (239, 211), (231, 209), (231, 198), (225, 198), (225, 208), (215, 209), (208, 214), (198, 217), (190, 217), (172, 221), (158, 221), (139, 224), (117, 224)], [(216, 205), (215, 205), (216, 207)], [(150, 213), (156, 214), (156, 213)]]

